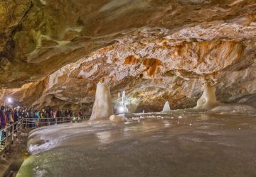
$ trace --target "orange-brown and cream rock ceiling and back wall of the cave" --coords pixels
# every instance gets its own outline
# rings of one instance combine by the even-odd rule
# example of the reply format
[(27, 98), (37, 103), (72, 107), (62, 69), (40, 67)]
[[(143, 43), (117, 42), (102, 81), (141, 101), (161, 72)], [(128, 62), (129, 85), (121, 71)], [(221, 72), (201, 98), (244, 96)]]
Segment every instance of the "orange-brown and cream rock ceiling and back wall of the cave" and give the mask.
[(2, 100), (90, 112), (104, 80), (130, 112), (188, 108), (209, 81), (223, 103), (256, 103), (255, 1), (1, 1), (0, 14)]

